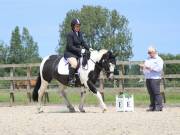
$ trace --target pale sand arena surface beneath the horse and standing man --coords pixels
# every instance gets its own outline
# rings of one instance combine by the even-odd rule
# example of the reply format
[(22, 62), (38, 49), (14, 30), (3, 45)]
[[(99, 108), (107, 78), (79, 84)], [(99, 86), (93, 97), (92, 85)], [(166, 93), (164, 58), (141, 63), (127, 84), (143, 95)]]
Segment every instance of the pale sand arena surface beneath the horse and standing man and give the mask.
[(35, 105), (0, 107), (0, 135), (180, 135), (180, 107), (163, 112), (85, 109), (86, 113), (68, 113), (65, 106), (51, 105), (37, 114)]

